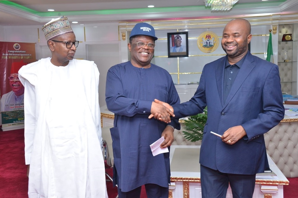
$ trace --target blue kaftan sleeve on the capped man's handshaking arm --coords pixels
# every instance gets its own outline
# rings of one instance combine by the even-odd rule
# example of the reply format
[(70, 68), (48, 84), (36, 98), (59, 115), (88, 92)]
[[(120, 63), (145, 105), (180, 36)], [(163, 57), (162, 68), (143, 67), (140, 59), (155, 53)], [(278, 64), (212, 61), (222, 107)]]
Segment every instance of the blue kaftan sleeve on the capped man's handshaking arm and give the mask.
[(114, 66), (108, 70), (105, 87), (105, 101), (108, 110), (129, 117), (136, 114), (150, 114), (152, 101), (127, 98), (124, 95), (122, 81), (119, 76), (117, 67)]

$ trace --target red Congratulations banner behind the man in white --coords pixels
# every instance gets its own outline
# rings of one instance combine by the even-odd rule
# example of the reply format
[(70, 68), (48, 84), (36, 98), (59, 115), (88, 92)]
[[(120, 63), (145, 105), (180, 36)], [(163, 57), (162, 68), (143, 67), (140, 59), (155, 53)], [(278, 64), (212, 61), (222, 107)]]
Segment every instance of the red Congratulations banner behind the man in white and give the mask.
[(35, 43), (0, 42), (0, 81), (2, 130), (24, 128), (24, 86), (18, 70), (36, 61)]

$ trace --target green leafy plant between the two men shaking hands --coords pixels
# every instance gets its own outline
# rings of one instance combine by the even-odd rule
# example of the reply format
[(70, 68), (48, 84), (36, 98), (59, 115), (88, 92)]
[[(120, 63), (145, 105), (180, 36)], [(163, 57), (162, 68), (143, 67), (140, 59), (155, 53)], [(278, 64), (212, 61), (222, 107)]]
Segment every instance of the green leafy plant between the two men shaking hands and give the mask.
[(207, 106), (203, 113), (190, 116), (187, 120), (185, 120), (183, 123), (185, 131), (182, 131), (182, 133), (184, 133), (184, 138), (190, 140), (191, 142), (202, 140), (206, 122)]

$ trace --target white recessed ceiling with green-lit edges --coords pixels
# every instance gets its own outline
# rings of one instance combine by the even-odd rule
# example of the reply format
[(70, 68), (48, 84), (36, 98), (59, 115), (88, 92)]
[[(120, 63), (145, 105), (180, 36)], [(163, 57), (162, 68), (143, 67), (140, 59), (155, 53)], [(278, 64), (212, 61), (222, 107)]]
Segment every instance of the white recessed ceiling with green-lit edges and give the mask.
[[(13, 2), (15, 4), (8, 5)], [(21, 6), (18, 6), (21, 5)], [(154, 8), (147, 8), (154, 5)], [(43, 25), (66, 15), (69, 21), (98, 23), (134, 20), (257, 16), (298, 13), (297, 0), (239, 0), (232, 10), (213, 12), (204, 0), (15, 0), (0, 1), (0, 25)], [(49, 12), (47, 9), (54, 9)], [(261, 14), (260, 14), (261, 13)]]

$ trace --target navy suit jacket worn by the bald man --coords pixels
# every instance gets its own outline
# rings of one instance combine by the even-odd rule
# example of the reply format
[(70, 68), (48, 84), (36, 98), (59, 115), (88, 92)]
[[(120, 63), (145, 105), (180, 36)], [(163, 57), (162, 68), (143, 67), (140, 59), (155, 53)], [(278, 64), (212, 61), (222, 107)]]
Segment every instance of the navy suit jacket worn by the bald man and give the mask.
[[(248, 52), (224, 103), (225, 60), (222, 57), (204, 66), (193, 98), (173, 105), (175, 118), (202, 113), (208, 106), (200, 164), (224, 173), (264, 172), (269, 166), (263, 134), (276, 126), (285, 112), (278, 66)], [(233, 145), (210, 133), (222, 135), (237, 125), (247, 135)]]

